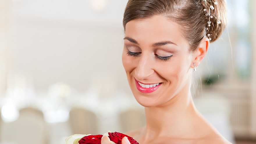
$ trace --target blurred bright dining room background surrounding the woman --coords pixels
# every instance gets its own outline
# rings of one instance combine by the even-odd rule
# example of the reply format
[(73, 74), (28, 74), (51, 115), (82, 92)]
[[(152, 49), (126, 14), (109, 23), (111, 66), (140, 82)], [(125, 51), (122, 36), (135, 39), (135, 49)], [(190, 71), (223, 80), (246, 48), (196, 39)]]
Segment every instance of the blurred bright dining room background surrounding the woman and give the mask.
[[(0, 0), (0, 143), (145, 125), (122, 66), (127, 0)], [(198, 110), (232, 143), (256, 143), (256, 1), (227, 0), (228, 27), (194, 74)]]

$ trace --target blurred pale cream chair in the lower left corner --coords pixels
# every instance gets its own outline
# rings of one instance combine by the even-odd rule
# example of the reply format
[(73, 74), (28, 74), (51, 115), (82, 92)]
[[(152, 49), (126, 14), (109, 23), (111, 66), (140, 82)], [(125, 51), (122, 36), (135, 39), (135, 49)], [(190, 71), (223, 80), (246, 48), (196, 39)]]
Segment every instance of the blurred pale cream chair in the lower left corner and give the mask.
[(25, 108), (19, 118), (1, 127), (2, 143), (47, 144), (47, 125), (43, 113), (37, 109)]

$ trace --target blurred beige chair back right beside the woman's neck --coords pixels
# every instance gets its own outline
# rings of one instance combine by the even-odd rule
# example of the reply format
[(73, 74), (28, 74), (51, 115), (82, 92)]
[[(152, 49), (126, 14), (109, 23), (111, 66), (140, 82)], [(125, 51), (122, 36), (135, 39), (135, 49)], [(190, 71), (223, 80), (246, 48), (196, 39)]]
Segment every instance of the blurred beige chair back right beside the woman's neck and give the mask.
[(146, 125), (145, 113), (135, 109), (130, 109), (121, 113), (120, 121), (124, 132), (139, 129)]

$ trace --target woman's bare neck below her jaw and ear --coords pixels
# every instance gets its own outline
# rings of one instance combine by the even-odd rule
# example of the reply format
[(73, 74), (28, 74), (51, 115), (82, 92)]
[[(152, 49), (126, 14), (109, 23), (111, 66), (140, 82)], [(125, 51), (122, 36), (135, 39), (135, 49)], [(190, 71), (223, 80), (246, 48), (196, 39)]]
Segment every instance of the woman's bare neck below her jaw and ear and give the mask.
[(186, 136), (186, 131), (193, 129), (192, 119), (197, 116), (190, 86), (185, 86), (181, 93), (164, 106), (146, 107), (145, 114), (147, 119), (146, 128), (143, 130), (145, 141), (166, 135), (173, 138)]

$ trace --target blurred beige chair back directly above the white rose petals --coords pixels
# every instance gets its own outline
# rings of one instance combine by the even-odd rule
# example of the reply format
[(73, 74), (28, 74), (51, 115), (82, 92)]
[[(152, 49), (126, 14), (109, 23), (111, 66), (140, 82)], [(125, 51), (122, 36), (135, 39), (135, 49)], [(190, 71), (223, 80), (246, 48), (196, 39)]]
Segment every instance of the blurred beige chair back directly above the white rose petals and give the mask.
[(82, 108), (74, 108), (69, 114), (74, 134), (98, 134), (97, 117), (94, 113)]

